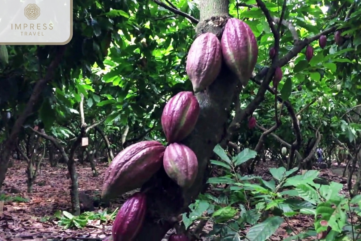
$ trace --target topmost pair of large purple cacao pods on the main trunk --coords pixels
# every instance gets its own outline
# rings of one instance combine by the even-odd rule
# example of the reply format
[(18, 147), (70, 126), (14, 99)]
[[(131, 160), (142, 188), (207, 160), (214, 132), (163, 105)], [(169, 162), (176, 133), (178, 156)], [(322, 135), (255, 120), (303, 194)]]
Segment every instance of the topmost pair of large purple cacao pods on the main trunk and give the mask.
[(246, 86), (256, 66), (258, 46), (256, 37), (247, 23), (230, 18), (221, 41), (213, 33), (203, 33), (192, 43), (187, 56), (186, 71), (193, 91), (210, 86), (221, 71), (224, 60), (228, 68)]

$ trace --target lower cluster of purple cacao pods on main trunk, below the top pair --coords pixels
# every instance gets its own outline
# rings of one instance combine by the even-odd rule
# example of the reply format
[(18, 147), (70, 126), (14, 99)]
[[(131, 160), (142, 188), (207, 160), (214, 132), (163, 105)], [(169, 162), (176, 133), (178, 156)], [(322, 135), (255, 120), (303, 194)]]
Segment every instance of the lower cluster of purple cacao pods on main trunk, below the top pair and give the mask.
[[(161, 118), (169, 145), (141, 141), (119, 152), (106, 170), (101, 198), (113, 198), (140, 188), (162, 166), (171, 180), (182, 188), (189, 188), (198, 173), (197, 157), (188, 146), (177, 142), (193, 131), (199, 114), (200, 106), (192, 92), (182, 91), (170, 98)], [(143, 225), (145, 211), (145, 194), (136, 193), (127, 199), (114, 220), (113, 240), (131, 241)]]

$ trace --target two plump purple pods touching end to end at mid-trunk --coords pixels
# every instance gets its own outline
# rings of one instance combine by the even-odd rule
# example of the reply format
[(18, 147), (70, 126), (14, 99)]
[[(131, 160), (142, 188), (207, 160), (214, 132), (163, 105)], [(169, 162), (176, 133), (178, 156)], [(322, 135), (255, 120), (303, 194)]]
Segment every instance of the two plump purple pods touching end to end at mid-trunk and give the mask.
[(162, 128), (169, 145), (163, 157), (167, 175), (182, 188), (189, 188), (198, 173), (196, 154), (183, 141), (195, 128), (200, 113), (197, 98), (182, 91), (169, 99), (162, 113)]

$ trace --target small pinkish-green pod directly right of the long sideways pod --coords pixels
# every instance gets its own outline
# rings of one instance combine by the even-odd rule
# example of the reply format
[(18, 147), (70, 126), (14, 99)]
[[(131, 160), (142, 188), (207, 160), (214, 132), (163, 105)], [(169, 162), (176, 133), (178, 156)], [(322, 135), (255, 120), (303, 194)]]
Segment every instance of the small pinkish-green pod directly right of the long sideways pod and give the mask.
[(171, 143), (165, 149), (163, 167), (170, 179), (182, 188), (189, 188), (197, 177), (197, 156), (188, 146)]

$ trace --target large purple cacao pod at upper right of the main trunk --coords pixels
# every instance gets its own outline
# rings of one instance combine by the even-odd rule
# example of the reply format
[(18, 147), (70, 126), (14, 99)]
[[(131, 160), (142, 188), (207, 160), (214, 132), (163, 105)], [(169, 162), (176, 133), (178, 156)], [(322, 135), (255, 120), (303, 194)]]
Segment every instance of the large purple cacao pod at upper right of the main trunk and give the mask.
[(258, 57), (257, 41), (251, 28), (238, 18), (230, 18), (223, 31), (221, 46), (226, 65), (246, 86)]

